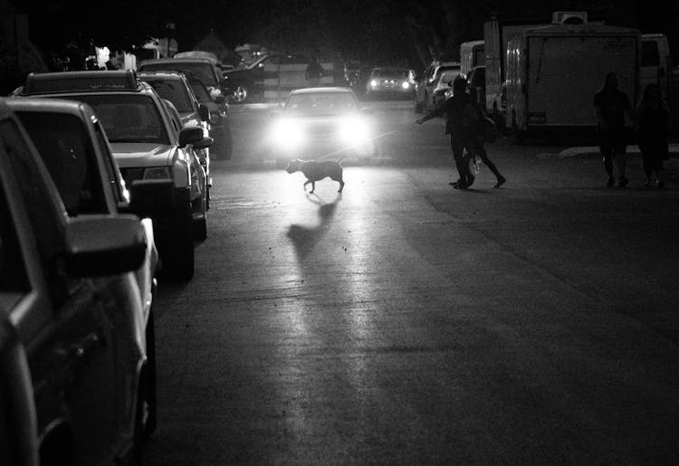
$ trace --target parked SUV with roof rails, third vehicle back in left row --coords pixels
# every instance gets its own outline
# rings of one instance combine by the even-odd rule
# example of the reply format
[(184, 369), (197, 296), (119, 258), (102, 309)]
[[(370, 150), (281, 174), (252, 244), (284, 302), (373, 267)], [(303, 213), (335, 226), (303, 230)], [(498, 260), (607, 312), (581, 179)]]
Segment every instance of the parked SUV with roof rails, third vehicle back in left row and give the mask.
[(88, 103), (106, 130), (126, 185), (160, 181), (145, 199), (145, 212), (153, 219), (162, 271), (190, 280), (194, 241), (206, 238), (207, 176), (196, 149), (209, 147), (212, 139), (203, 128), (177, 133), (158, 93), (132, 71), (32, 73), (22, 95)]

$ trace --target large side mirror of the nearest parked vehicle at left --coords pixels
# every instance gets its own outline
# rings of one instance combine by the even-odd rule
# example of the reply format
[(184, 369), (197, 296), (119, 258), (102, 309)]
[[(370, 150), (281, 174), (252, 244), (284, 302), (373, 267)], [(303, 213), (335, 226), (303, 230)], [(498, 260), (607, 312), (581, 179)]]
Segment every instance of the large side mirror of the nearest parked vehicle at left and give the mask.
[(146, 257), (146, 233), (134, 215), (88, 215), (66, 223), (64, 266), (74, 277), (135, 271)]

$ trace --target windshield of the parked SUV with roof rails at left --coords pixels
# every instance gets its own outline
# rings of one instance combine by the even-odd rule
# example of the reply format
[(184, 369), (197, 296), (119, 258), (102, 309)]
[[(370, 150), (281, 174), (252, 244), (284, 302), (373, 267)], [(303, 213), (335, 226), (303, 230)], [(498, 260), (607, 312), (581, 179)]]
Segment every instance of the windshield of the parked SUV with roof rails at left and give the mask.
[(94, 109), (110, 142), (169, 144), (167, 128), (148, 95), (83, 94), (78, 100)]

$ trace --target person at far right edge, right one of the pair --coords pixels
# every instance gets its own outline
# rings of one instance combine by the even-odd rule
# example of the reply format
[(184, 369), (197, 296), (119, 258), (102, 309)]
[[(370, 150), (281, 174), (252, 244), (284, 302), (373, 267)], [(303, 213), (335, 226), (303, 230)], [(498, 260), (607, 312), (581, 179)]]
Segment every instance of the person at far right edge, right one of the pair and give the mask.
[(646, 187), (663, 187), (663, 162), (669, 157), (670, 109), (660, 86), (648, 84), (636, 106), (636, 141), (644, 158)]

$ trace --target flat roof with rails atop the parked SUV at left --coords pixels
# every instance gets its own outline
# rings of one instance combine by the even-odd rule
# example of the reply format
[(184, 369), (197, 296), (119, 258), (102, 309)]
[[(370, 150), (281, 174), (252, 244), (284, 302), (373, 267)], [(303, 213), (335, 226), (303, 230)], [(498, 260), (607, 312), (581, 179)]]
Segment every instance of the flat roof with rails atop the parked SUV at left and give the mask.
[(139, 91), (134, 71), (59, 71), (30, 73), (21, 95), (82, 91)]

